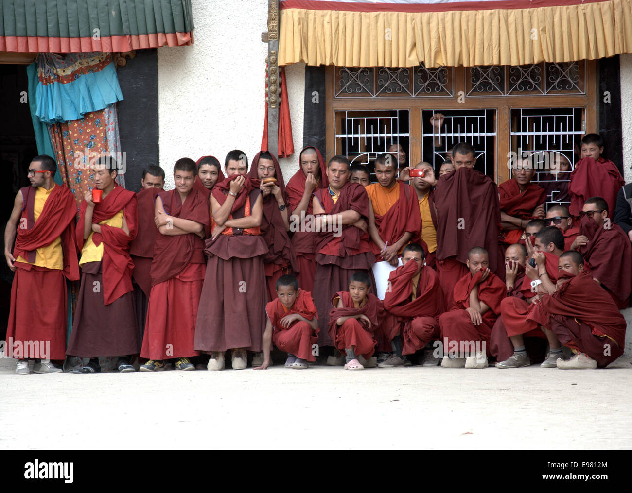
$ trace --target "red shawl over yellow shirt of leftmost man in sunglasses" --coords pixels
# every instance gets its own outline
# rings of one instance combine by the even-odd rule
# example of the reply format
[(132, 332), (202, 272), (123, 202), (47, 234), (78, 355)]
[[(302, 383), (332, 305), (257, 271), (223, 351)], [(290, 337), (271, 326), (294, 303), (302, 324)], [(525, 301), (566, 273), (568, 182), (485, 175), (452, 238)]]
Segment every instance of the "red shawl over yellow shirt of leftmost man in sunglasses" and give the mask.
[[(28, 262), (35, 262), (38, 248), (48, 246), (56, 239), (61, 238), (64, 276), (71, 281), (78, 280), (75, 196), (67, 187), (55, 185), (46, 198), (37, 221), (35, 221), (33, 207), (35, 206), (37, 189), (27, 186), (21, 188), (20, 193), (22, 194), (22, 213), (13, 247), (13, 257), (18, 258), (19, 256)], [(26, 223), (26, 228), (21, 227), (23, 223)], [(27, 270), (32, 268), (31, 264), (21, 264), (20, 267)]]

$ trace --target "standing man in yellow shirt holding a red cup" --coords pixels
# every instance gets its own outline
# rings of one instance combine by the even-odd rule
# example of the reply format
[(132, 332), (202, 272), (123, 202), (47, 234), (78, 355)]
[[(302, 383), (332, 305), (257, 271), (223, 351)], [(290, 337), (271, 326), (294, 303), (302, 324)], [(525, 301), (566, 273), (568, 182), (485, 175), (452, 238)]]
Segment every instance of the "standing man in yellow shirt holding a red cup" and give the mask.
[(128, 355), (140, 352), (130, 258), (138, 229), (136, 194), (114, 182), (117, 169), (114, 158), (99, 158), (94, 183), (100, 202), (88, 191), (76, 226), (82, 277), (66, 354), (90, 358), (78, 373), (100, 372), (99, 356), (118, 356), (120, 372), (135, 371)]

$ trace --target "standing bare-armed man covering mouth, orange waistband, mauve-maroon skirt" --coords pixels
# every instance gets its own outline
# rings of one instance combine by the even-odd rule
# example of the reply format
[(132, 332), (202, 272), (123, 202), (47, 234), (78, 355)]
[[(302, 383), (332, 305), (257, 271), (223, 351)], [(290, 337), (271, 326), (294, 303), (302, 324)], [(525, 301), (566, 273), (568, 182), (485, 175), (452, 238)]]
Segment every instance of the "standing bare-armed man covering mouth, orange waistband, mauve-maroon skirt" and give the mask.
[(234, 370), (245, 369), (246, 350), (262, 352), (267, 303), (261, 191), (246, 175), (243, 151), (230, 151), (224, 166), (228, 177), (210, 196), (212, 233), (206, 241), (207, 270), (195, 324), (195, 349), (210, 354), (210, 371), (224, 369), (228, 349), (233, 350)]

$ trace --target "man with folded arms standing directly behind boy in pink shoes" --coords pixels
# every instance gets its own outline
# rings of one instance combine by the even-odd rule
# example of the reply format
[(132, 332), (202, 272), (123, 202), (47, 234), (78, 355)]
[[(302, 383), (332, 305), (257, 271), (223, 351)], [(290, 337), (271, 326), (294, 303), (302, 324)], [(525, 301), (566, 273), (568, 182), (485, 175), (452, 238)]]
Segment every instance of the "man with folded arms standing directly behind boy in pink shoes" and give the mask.
[[(315, 242), (316, 275), (314, 293), (319, 311), (319, 345), (332, 346), (327, 331), (331, 292), (349, 286), (358, 270), (369, 270), (375, 262), (367, 233), (369, 200), (365, 188), (349, 182), (349, 162), (334, 156), (327, 165), (329, 187), (313, 194), (312, 210), (317, 230)], [(305, 225), (308, 226), (307, 224)]]

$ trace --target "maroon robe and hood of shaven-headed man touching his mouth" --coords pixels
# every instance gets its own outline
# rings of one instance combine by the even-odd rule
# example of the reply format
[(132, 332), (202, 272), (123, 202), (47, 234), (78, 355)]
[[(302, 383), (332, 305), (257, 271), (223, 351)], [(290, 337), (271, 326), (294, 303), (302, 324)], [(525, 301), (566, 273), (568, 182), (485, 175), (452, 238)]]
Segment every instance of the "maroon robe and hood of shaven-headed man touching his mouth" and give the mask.
[[(327, 181), (327, 166), (325, 165), (325, 160), (322, 158), (320, 151), (314, 146), (307, 146), (303, 149), (303, 151), (307, 148), (312, 148), (316, 151), (316, 155), (319, 160), (320, 165), (320, 181), (319, 188), (327, 189), (329, 186), (329, 182)], [(303, 152), (301, 151), (301, 153)], [(288, 186), (286, 187), (286, 191), (288, 193), (288, 208), (289, 213), (291, 214), (293, 210), (300, 204), (301, 199), (303, 198), (303, 193), (305, 193), (305, 181), (307, 180), (307, 176), (303, 172), (300, 162), (298, 163), (298, 171), (289, 179)], [(312, 198), (310, 197), (310, 201), (307, 206), (307, 211), (305, 211), (305, 216), (312, 215)], [(303, 231), (299, 229), (295, 231), (292, 235), (292, 244), (294, 245), (294, 249), (296, 252), (296, 261), (298, 263), (299, 273), (296, 276), (298, 278), (298, 285), (301, 289), (305, 289), (309, 292), (313, 292), (314, 286), (314, 276), (316, 273), (316, 252), (315, 252), (315, 242), (316, 237), (313, 232)]]

